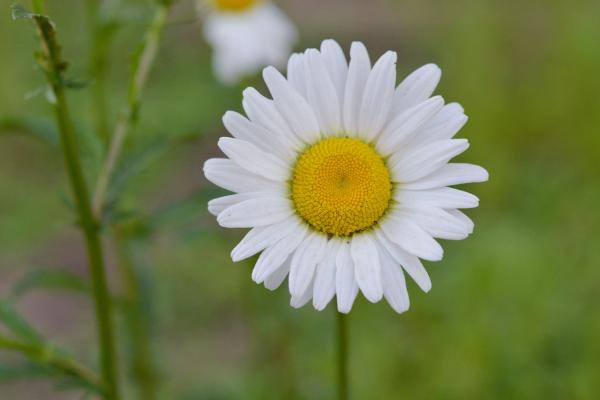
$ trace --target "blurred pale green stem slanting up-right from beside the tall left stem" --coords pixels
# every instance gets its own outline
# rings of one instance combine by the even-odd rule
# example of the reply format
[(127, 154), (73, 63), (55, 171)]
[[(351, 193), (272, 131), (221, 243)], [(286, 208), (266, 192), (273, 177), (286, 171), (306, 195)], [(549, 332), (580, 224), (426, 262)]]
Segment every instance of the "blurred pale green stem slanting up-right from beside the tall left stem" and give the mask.
[(139, 57), (135, 59), (131, 81), (129, 83), (129, 97), (125, 109), (117, 122), (115, 131), (111, 137), (108, 154), (98, 175), (94, 191), (93, 211), (98, 217), (102, 214), (104, 198), (112, 172), (116, 166), (119, 155), (125, 142), (127, 134), (135, 127), (139, 110), (140, 99), (150, 69), (156, 58), (160, 38), (167, 21), (171, 2), (162, 1), (156, 5), (156, 11), (148, 31), (146, 32)]

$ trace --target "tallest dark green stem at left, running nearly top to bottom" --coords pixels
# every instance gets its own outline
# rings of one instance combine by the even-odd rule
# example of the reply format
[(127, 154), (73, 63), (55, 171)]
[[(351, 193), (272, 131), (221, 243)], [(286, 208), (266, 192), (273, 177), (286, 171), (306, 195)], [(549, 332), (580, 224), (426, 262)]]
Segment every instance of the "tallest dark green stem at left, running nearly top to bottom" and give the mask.
[(106, 280), (99, 226), (92, 212), (89, 192), (79, 159), (75, 129), (65, 96), (62, 73), (66, 64), (60, 56), (60, 46), (56, 41), (54, 25), (45, 16), (35, 16), (34, 21), (42, 44), (42, 56), (38, 61), (46, 73), (54, 97), (52, 106), (60, 132), (64, 162), (75, 197), (79, 223), (85, 237), (98, 327), (105, 398), (117, 400), (119, 392), (111, 299)]

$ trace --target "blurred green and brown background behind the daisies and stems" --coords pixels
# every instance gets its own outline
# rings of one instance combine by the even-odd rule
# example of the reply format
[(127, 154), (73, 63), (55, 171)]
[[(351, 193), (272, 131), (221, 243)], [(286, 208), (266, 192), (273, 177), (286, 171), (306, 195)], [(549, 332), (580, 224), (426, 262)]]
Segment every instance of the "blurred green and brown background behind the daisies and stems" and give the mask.
[[(85, 276), (86, 262), (62, 162), (40, 136), (53, 123), (32, 52), (33, 29), (0, 0), (0, 296), (38, 268)], [(85, 79), (84, 3), (48, 0), (71, 75)], [(131, 52), (149, 17), (123, 0), (110, 53), (111, 121), (126, 96)], [(284, 287), (250, 280), (253, 260), (233, 264), (242, 231), (220, 229), (206, 211), (220, 193), (203, 178), (218, 154), (220, 117), (241, 109), (241, 88), (223, 87), (210, 49), (180, 0), (170, 17), (128, 143), (121, 211), (127, 251), (143, 277), (146, 331), (164, 399), (327, 399), (335, 394), (334, 308), (288, 306)], [(490, 181), (467, 187), (474, 235), (446, 242), (428, 263), (433, 290), (409, 283), (411, 309), (396, 315), (363, 298), (350, 315), (354, 399), (597, 399), (600, 396), (600, 2), (520, 0), (285, 0), (298, 49), (337, 39), (398, 52), (399, 75), (435, 62), (437, 93), (464, 105), (460, 159)], [(259, 80), (246, 82), (264, 92)], [(92, 126), (90, 88), (69, 92), (83, 141)], [(31, 131), (31, 132), (29, 132)], [(33, 133), (33, 134), (29, 134)], [(89, 136), (89, 135), (88, 135)], [(158, 144), (157, 144), (158, 143)], [(92, 146), (93, 148), (93, 146)], [(141, 149), (141, 150), (140, 150)], [(97, 155), (88, 151), (87, 173)], [(141, 155), (140, 155), (141, 154)], [(139, 156), (138, 158), (135, 158)], [(141, 158), (141, 161), (138, 159)], [(129, 170), (127, 169), (129, 168)], [(133, 171), (130, 171), (133, 170)], [(141, 222), (140, 222), (141, 221)], [(123, 281), (107, 241), (111, 281)], [(131, 255), (130, 254), (130, 255)], [(94, 365), (94, 318), (79, 293), (30, 291), (18, 309), (53, 342)], [(131, 341), (119, 330), (124, 379)], [(0, 362), (13, 355), (0, 353)], [(129, 389), (131, 391), (131, 389)], [(0, 386), (2, 399), (79, 399), (47, 381)]]

